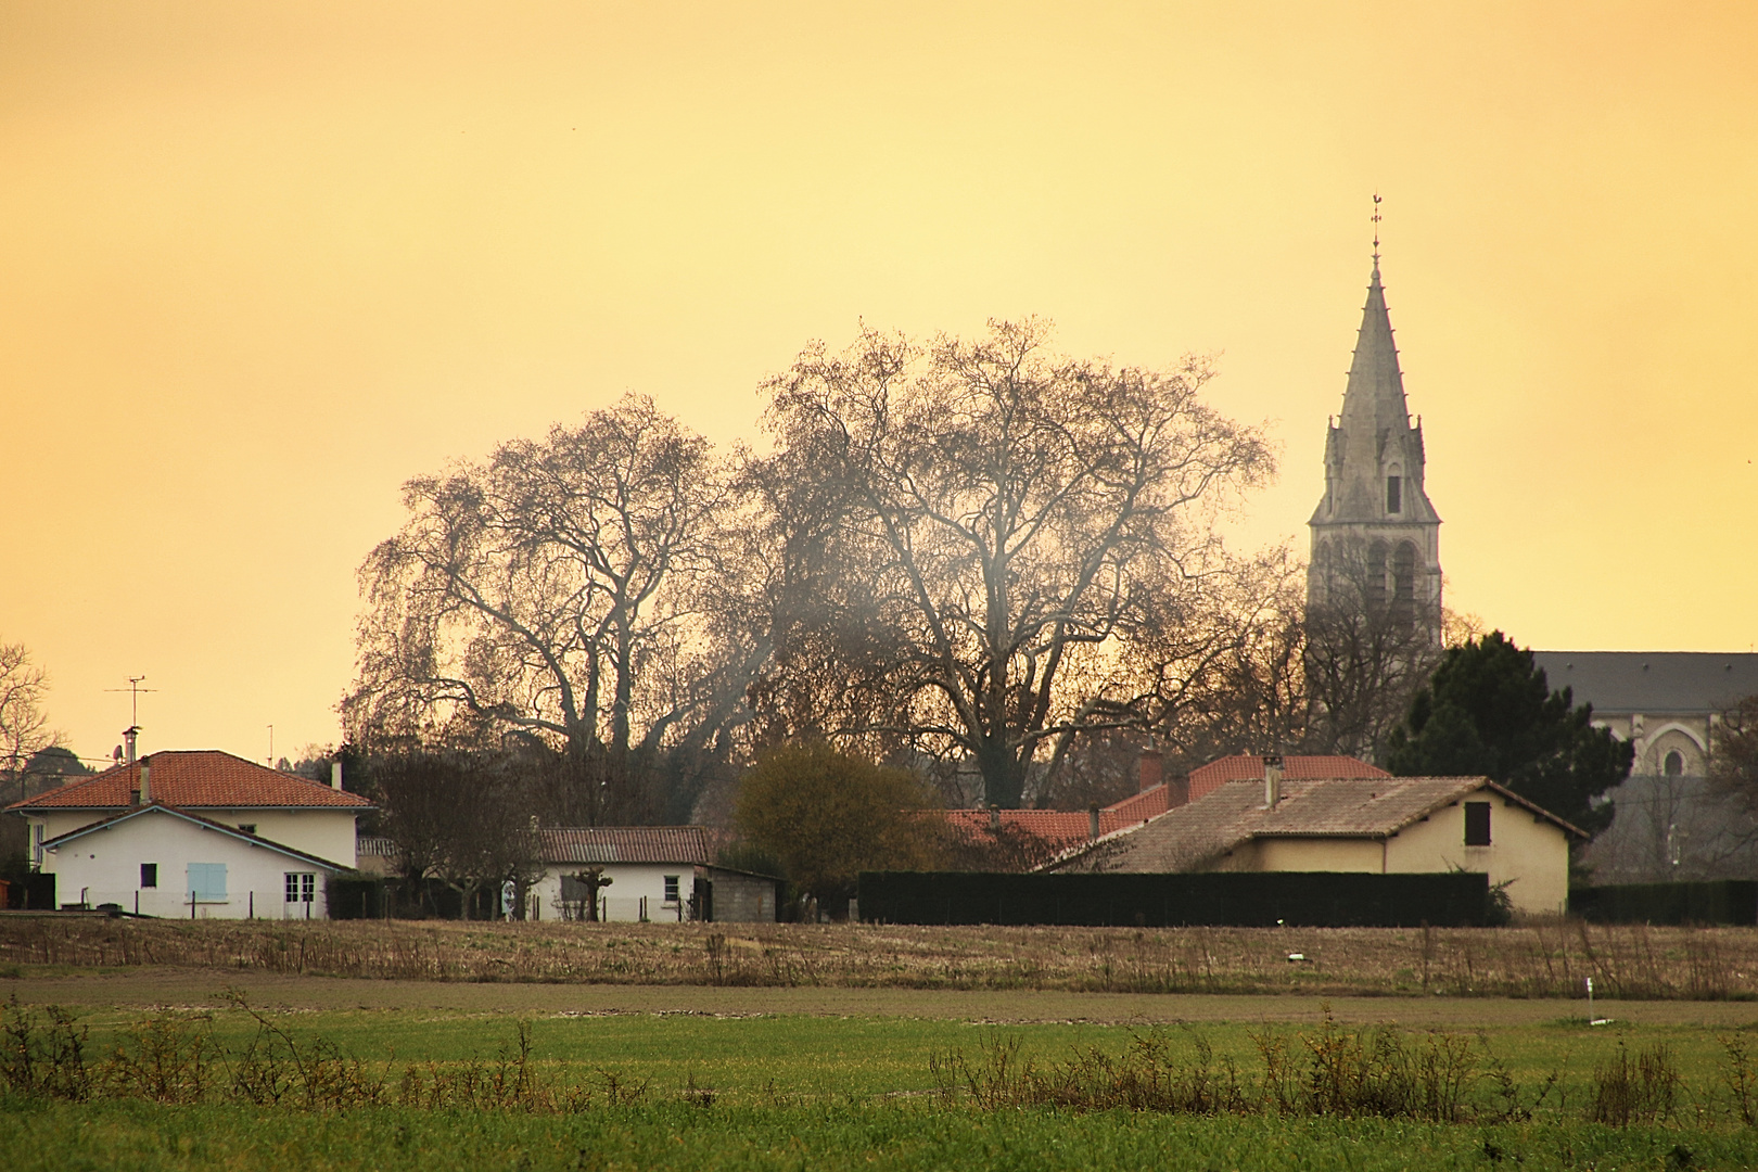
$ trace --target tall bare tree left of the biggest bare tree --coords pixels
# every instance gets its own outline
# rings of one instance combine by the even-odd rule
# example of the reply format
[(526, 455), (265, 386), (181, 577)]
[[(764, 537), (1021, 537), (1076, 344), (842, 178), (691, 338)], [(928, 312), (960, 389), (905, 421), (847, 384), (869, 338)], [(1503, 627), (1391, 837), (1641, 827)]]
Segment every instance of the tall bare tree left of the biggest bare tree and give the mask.
[(731, 499), (707, 441), (629, 395), (418, 476), (404, 504), (360, 568), (350, 738), (462, 722), (552, 743), (570, 768), (559, 817), (654, 815), (657, 757), (705, 752), (763, 655), (724, 620)]

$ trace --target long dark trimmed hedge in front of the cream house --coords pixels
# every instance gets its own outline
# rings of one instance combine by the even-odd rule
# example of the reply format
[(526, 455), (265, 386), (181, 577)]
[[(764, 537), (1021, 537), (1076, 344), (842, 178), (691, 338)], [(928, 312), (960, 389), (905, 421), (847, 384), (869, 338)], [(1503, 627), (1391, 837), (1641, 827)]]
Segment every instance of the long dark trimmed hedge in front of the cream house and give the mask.
[(1413, 928), (1486, 924), (1491, 901), (1489, 877), (1466, 872), (861, 872), (860, 914), (888, 924)]

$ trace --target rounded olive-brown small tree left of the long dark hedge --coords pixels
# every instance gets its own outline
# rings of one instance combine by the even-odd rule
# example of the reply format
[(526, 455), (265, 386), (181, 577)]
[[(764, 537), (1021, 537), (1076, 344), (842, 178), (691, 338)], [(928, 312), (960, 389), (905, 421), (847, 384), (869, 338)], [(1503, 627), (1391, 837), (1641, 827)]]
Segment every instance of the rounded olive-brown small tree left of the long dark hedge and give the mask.
[(926, 815), (933, 805), (914, 775), (817, 742), (765, 754), (738, 787), (735, 819), (803, 894), (846, 915), (861, 872), (939, 861), (941, 826)]

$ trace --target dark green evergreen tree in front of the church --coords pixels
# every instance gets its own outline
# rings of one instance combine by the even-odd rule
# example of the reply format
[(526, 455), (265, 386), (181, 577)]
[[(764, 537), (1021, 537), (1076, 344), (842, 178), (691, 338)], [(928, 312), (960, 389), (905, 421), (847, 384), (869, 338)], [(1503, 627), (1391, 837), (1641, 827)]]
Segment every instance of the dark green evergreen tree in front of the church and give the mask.
[(1593, 727), (1593, 705), (1551, 691), (1533, 654), (1500, 631), (1450, 648), (1392, 731), (1399, 777), (1489, 777), (1587, 833), (1612, 822), (1593, 799), (1630, 777), (1635, 749)]

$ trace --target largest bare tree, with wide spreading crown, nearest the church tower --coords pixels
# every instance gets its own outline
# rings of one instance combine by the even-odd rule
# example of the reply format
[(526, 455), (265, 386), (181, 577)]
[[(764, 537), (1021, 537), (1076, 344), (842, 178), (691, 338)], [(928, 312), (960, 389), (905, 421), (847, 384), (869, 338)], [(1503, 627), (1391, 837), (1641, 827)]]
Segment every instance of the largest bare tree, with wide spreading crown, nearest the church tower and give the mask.
[(1199, 401), (1202, 362), (1116, 369), (1046, 337), (1037, 320), (928, 346), (863, 330), (763, 388), (770, 467), (833, 510), (814, 518), (840, 620), (819, 654), (861, 696), (828, 731), (962, 757), (999, 807), (1057, 738), (1139, 722), (1118, 647), (1157, 592), (1211, 571), (1215, 511), (1273, 469), (1257, 430)]

